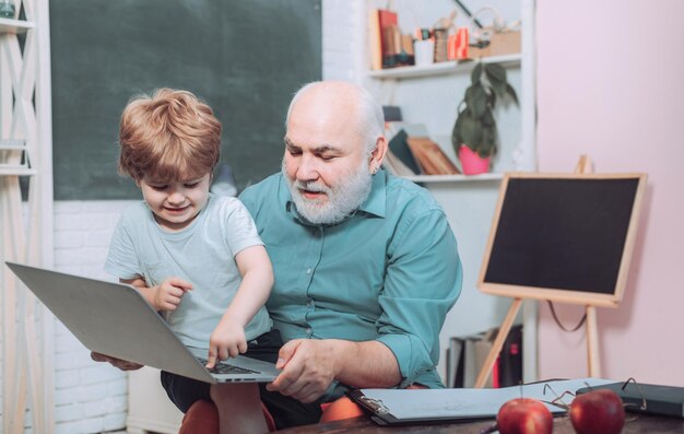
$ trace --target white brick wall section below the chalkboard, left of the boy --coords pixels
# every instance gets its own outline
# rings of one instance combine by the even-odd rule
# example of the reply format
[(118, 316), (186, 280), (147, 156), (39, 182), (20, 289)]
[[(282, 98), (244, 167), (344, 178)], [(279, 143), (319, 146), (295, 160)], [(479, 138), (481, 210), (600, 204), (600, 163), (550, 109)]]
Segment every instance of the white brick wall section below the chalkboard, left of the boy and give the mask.
[[(55, 268), (108, 279), (103, 265), (111, 232), (129, 201), (55, 203)], [(91, 361), (90, 352), (61, 325), (55, 326), (55, 421), (57, 434), (99, 433), (126, 426), (127, 375)]]

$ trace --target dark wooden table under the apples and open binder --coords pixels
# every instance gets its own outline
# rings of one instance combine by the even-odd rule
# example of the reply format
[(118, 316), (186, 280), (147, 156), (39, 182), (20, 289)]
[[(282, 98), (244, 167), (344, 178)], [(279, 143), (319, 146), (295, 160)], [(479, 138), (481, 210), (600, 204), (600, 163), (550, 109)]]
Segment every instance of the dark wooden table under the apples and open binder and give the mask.
[[(439, 425), (406, 425), (406, 426), (379, 426), (368, 418), (355, 418), (344, 421), (320, 423), (316, 425), (297, 426), (278, 431), (281, 434), (481, 434), (483, 430), (492, 426), (494, 421), (448, 423)], [(554, 434), (575, 434), (573, 424), (567, 415), (554, 419)], [(622, 434), (660, 434), (684, 433), (684, 419), (664, 418), (650, 414), (627, 413), (627, 420)]]

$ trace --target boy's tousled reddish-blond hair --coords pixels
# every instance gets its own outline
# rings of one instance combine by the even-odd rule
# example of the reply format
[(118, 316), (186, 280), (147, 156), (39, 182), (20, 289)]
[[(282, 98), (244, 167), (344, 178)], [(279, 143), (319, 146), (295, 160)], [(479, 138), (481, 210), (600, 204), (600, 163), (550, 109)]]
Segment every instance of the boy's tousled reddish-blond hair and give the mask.
[(119, 125), (119, 172), (135, 181), (197, 179), (213, 172), (221, 153), (221, 122), (187, 91), (158, 89), (133, 97)]

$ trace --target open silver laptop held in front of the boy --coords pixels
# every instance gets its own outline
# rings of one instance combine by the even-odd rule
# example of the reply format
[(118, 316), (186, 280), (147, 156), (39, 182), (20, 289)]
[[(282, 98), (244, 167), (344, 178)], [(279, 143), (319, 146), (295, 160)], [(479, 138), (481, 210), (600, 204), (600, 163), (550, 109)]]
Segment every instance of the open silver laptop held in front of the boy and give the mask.
[(205, 383), (270, 383), (275, 365), (237, 356), (211, 372), (132, 285), (5, 262), (89, 350)]

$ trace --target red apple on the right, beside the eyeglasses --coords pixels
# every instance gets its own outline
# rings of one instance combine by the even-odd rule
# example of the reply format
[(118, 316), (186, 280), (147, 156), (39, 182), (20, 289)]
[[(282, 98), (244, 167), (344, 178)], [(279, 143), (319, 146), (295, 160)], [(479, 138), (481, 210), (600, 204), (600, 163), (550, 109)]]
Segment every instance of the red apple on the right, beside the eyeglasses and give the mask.
[(577, 434), (617, 434), (625, 424), (622, 399), (609, 389), (578, 395), (570, 403), (569, 413)]

